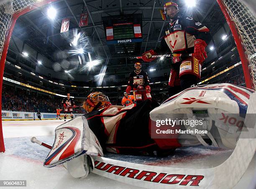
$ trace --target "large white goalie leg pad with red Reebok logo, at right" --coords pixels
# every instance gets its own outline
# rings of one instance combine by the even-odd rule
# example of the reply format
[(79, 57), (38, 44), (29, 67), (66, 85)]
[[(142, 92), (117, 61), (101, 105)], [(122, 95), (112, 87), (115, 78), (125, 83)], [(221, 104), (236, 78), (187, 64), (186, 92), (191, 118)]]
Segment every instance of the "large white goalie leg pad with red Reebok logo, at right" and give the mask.
[[(254, 92), (229, 83), (196, 86), (168, 98), (150, 112), (150, 118), (153, 121), (166, 118), (172, 120), (201, 119), (203, 120), (202, 126), (193, 128), (188, 125), (185, 128), (209, 131), (207, 136), (214, 146), (234, 149), (243, 129), (249, 98)], [(212, 126), (212, 124), (214, 125)], [(218, 131), (217, 142), (210, 133), (211, 129)], [(204, 134), (194, 134), (193, 136), (201, 144), (207, 145), (201, 137)], [(185, 139), (185, 137), (186, 135), (180, 135), (179, 139)]]

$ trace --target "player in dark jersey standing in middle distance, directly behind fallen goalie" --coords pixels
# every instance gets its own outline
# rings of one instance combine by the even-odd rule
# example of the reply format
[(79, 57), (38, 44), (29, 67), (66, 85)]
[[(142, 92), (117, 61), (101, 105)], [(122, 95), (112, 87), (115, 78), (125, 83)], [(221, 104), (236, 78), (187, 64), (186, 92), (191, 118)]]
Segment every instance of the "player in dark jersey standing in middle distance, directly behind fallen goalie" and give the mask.
[(148, 74), (141, 70), (141, 63), (134, 64), (135, 71), (130, 73), (126, 93), (130, 94), (131, 90), (135, 91), (135, 101), (141, 102), (151, 99), (151, 88), (149, 86)]

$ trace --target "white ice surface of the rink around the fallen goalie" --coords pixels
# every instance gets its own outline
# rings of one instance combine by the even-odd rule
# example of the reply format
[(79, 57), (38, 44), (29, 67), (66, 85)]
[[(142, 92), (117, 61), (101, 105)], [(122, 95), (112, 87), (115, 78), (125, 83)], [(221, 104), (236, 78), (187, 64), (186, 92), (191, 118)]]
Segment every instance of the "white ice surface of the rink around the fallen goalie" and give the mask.
[[(38, 140), (52, 145), (54, 129), (62, 123), (63, 120), (3, 121), (6, 151), (0, 153), (0, 180), (27, 180), (27, 189), (138, 188), (93, 173), (85, 179), (74, 179), (63, 166), (45, 168), (43, 161), (49, 149), (31, 143), (31, 136), (36, 136)], [(200, 145), (177, 149), (173, 155), (163, 158), (117, 154), (105, 154), (105, 156), (138, 164), (207, 168), (223, 163), (231, 153), (231, 150)], [(245, 186), (248, 186), (246, 184), (251, 182), (255, 173), (256, 156), (235, 189), (246, 188)]]

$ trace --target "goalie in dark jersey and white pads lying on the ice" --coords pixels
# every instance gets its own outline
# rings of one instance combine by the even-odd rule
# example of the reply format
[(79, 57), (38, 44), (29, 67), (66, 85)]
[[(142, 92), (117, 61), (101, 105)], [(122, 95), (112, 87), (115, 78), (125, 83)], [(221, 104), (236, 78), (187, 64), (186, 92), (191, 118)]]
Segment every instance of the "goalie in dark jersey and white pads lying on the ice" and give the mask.
[[(103, 151), (166, 156), (198, 144), (235, 148), (253, 92), (219, 83), (186, 89), (160, 106), (148, 100), (127, 107), (112, 106), (103, 93), (91, 93), (83, 104), (88, 113), (55, 129), (44, 166), (67, 161), (72, 176), (84, 177), (88, 165), (93, 168), (92, 156), (103, 156)], [(82, 170), (74, 171), (74, 166)]]

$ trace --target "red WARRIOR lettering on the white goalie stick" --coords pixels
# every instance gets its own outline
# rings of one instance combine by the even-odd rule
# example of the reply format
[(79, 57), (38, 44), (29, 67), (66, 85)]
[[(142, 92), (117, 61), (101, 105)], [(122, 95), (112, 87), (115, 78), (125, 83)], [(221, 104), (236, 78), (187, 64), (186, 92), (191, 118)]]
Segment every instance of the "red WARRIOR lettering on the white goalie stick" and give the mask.
[(95, 169), (105, 171), (109, 174), (128, 177), (136, 180), (149, 181), (161, 184), (179, 184), (181, 186), (199, 186), (204, 178), (202, 175), (187, 174), (167, 174), (162, 172), (152, 172), (147, 170), (133, 169), (129, 167), (107, 164), (105, 162), (94, 161)]

